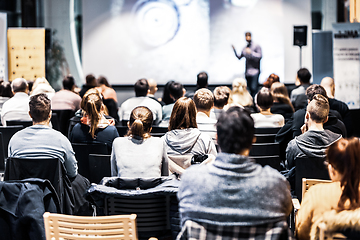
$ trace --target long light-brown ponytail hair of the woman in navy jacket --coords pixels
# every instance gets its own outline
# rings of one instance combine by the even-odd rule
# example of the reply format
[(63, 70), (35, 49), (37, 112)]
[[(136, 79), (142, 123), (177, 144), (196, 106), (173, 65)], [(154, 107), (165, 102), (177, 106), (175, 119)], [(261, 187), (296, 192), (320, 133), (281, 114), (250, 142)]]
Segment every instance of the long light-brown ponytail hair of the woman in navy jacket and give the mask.
[(82, 98), (81, 108), (90, 120), (89, 133), (92, 138), (95, 138), (95, 132), (98, 129), (98, 124), (104, 109), (99, 91), (96, 89), (88, 90)]

